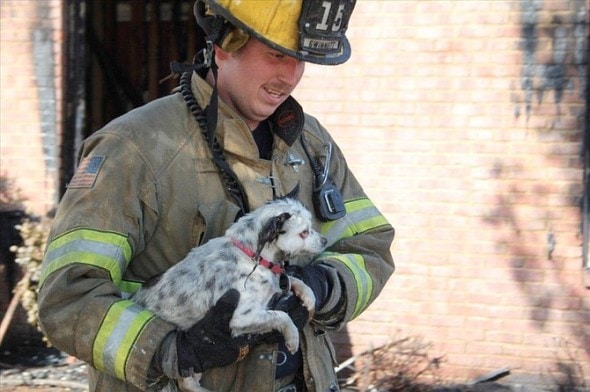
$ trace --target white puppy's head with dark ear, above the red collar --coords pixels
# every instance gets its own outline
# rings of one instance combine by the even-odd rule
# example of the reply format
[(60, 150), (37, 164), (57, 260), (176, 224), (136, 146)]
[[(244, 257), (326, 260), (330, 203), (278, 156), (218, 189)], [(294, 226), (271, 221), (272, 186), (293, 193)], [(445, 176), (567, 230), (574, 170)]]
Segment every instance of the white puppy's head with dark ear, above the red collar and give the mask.
[(264, 222), (258, 234), (258, 251), (265, 245), (275, 248), (274, 258), (293, 258), (316, 255), (322, 252), (327, 240), (313, 230), (311, 213), (294, 199), (280, 199), (268, 203), (263, 209)]

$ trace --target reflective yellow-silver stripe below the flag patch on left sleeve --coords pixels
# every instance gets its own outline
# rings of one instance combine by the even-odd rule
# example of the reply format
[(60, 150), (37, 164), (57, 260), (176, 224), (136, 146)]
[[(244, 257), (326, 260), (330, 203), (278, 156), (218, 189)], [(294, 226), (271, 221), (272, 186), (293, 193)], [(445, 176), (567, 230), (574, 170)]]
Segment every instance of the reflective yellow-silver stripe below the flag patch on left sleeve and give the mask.
[(131, 246), (126, 236), (90, 229), (74, 230), (48, 245), (41, 283), (53, 272), (74, 263), (103, 268), (110, 273), (113, 282), (119, 282), (129, 260)]

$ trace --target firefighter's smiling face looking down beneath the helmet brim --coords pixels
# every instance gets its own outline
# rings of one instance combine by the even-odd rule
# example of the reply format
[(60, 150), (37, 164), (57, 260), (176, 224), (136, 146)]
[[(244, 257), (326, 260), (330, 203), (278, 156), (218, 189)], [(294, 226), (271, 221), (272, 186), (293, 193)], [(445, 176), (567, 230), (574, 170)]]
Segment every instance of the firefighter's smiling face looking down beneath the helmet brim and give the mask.
[(250, 129), (270, 116), (293, 92), (305, 63), (250, 38), (238, 52), (216, 48), (217, 88), (223, 101)]

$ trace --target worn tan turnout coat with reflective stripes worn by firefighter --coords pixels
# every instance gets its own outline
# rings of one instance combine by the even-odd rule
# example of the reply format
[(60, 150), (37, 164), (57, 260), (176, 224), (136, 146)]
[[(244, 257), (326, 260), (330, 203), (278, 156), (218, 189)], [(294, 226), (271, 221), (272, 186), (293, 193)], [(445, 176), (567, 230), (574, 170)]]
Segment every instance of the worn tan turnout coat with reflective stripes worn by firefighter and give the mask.
[[(196, 74), (191, 85), (205, 107), (211, 87)], [(315, 118), (290, 97), (272, 116), (272, 158), (264, 160), (246, 123), (222, 101), (218, 117), (216, 136), (251, 209), (299, 186), (299, 199), (313, 211), (313, 172), (300, 136), (320, 162), (324, 144), (334, 143)], [(326, 332), (361, 314), (394, 270), (394, 230), (335, 144), (329, 167), (346, 215), (314, 218), (329, 247), (313, 262), (329, 266), (340, 286), (316, 313), (330, 317), (305, 327), (301, 347), (307, 389), (322, 392), (338, 389)], [(90, 365), (91, 391), (147, 390), (162, 377), (152, 358), (174, 326), (129, 296), (195, 245), (223, 235), (238, 210), (179, 93), (132, 110), (85, 140), (50, 233), (39, 317), (53, 345)], [(244, 360), (205, 372), (202, 384), (215, 391), (273, 391), (277, 357), (275, 344), (257, 346)]]

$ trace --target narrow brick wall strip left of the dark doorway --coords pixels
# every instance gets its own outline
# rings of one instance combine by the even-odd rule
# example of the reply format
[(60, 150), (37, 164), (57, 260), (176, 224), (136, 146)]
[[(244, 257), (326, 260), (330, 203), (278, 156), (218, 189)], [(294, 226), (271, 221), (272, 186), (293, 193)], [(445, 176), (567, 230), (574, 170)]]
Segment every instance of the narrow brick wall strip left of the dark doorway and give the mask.
[(0, 1), (0, 174), (15, 181), (34, 214), (57, 200), (61, 7), (60, 0)]

